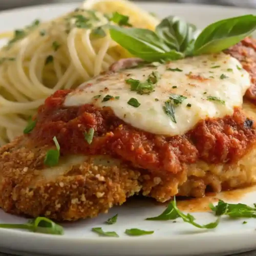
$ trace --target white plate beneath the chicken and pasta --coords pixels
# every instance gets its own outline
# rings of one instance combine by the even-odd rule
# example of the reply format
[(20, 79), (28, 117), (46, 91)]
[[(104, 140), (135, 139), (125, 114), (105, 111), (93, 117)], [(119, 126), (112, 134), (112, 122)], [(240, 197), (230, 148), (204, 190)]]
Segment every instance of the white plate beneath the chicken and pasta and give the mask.
[[(256, 13), (255, 10), (225, 8), (216, 6), (196, 6), (178, 4), (140, 4), (144, 9), (155, 12), (160, 17), (178, 15), (185, 17), (199, 28), (215, 20)], [(29, 24), (35, 18), (50, 19), (77, 7), (74, 4), (37, 6), (33, 8), (16, 9), (0, 13), (0, 31), (6, 31)], [(252, 204), (256, 193), (246, 194), (240, 201)], [(245, 251), (256, 247), (256, 219), (223, 220), (215, 230), (199, 230), (188, 223), (178, 220), (153, 222), (144, 221), (146, 217), (160, 214), (165, 206), (156, 205), (152, 201), (137, 199), (129, 201), (121, 207), (111, 209), (108, 215), (96, 219), (66, 223), (64, 236), (50, 236), (22, 230), (0, 229), (0, 248), (12, 249), (24, 255), (56, 254), (56, 255), (193, 255), (193, 254), (228, 254), (234, 251)], [(103, 222), (119, 214), (115, 225), (105, 225)], [(195, 214), (199, 223), (207, 223), (215, 219), (209, 213)], [(23, 223), (24, 218), (14, 217), (0, 211), (0, 222)], [(92, 227), (102, 227), (106, 231), (116, 231), (120, 238), (102, 238), (91, 231)], [(128, 237), (124, 234), (126, 228), (141, 228), (155, 230), (151, 236)], [(219, 255), (219, 254), (218, 254)]]

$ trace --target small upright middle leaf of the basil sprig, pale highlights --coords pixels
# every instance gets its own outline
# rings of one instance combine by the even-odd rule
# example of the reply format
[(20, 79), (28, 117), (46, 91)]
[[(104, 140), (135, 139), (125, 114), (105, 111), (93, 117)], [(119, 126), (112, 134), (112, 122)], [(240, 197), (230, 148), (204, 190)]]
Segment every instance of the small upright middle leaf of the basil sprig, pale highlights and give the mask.
[(156, 27), (156, 33), (165, 43), (178, 52), (189, 52), (198, 35), (196, 26), (177, 16), (164, 18)]

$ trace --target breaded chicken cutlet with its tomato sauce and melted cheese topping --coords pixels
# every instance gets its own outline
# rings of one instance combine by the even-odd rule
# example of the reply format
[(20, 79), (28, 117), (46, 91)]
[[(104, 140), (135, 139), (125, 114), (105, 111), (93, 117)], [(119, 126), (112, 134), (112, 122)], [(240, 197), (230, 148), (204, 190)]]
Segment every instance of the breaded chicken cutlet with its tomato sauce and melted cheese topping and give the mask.
[(255, 182), (254, 46), (246, 38), (226, 54), (157, 67), (121, 60), (57, 91), (28, 134), (0, 150), (0, 206), (77, 220), (138, 193), (164, 202)]

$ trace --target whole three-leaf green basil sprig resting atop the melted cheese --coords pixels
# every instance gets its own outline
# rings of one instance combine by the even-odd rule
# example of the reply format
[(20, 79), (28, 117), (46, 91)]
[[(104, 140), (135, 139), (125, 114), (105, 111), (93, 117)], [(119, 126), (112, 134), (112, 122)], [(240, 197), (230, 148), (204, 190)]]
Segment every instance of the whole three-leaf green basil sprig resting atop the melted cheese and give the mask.
[(177, 60), (186, 56), (221, 52), (256, 29), (256, 16), (220, 20), (201, 33), (193, 24), (176, 16), (162, 20), (156, 31), (110, 26), (114, 41), (146, 61)]

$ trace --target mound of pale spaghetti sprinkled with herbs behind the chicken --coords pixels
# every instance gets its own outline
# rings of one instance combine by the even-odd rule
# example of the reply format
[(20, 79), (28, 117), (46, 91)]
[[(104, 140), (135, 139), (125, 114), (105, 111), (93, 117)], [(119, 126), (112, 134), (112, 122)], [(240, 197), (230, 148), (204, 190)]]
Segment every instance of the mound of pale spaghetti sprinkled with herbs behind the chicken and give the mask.
[(125, 56), (102, 13), (77, 9), (51, 22), (2, 33), (0, 50), (0, 145), (23, 133), (44, 99), (71, 89)]

